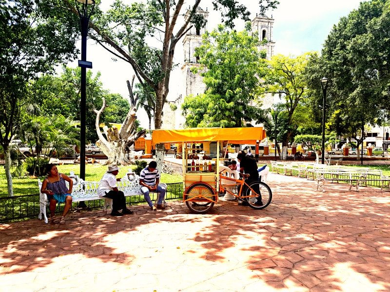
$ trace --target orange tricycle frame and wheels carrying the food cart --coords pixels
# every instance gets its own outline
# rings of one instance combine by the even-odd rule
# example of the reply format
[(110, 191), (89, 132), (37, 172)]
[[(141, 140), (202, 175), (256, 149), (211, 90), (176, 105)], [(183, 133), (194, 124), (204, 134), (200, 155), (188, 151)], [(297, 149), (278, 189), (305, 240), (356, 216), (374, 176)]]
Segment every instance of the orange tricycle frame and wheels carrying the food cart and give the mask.
[[(223, 172), (224, 170), (219, 174), (218, 192), (208, 183), (193, 183), (187, 188), (184, 192), (184, 201), (192, 212), (198, 214), (207, 213), (217, 202), (218, 194), (226, 192), (233, 195), (237, 200), (248, 202), (249, 206), (256, 210), (264, 209), (271, 203), (272, 191), (268, 184), (260, 181), (247, 183), (244, 179), (224, 176)], [(234, 183), (222, 183), (223, 180)], [(259, 203), (259, 198), (261, 198), (261, 203)]]

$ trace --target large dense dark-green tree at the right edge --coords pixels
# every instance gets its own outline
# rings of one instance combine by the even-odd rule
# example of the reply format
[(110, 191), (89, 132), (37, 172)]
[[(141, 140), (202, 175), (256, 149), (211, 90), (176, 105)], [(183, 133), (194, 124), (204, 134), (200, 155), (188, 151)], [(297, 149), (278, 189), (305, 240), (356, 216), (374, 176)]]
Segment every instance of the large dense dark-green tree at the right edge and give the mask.
[(357, 148), (365, 138), (364, 126), (374, 124), (381, 109), (389, 109), (390, 20), (386, 5), (385, 0), (360, 3), (333, 27), (322, 56), (313, 57), (308, 66), (308, 85), (317, 101), (313, 104), (322, 100), (318, 80), (322, 76), (331, 80), (327, 128), (356, 139)]

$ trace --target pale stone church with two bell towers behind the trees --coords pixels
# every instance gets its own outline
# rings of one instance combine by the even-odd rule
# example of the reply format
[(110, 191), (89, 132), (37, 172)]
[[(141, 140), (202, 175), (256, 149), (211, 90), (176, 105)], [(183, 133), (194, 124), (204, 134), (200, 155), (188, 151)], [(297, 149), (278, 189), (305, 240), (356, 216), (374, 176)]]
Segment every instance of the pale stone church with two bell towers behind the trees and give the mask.
[[(194, 74), (191, 71), (192, 67), (200, 66), (198, 63), (198, 57), (195, 57), (195, 48), (199, 47), (202, 44), (202, 35), (208, 28), (208, 17), (209, 12), (198, 7), (198, 14), (202, 14), (206, 20), (206, 25), (204, 28), (196, 29), (193, 26), (187, 34), (183, 37), (183, 53), (184, 60), (183, 64), (180, 67), (181, 72), (178, 74), (177, 78), (178, 83), (174, 84), (177, 89), (177, 92), (169, 93), (169, 104), (175, 105), (176, 110), (166, 104), (164, 105), (163, 117), (162, 117), (162, 128), (184, 128), (185, 118), (181, 112), (181, 105), (184, 102), (184, 97), (190, 94), (198, 95), (204, 93), (206, 86), (203, 83), (203, 77), (197, 73)], [(187, 11), (185, 18), (187, 19), (190, 15), (190, 10)], [(267, 17), (265, 14), (257, 15), (252, 20), (252, 32), (257, 32), (258, 38), (260, 41), (266, 39), (267, 42), (265, 45), (259, 45), (259, 50), (266, 50), (267, 59), (271, 59), (273, 56), (275, 42), (273, 41), (273, 21), (271, 17)], [(172, 79), (171, 79), (172, 80)], [(273, 104), (273, 95), (268, 94), (263, 99), (263, 108), (269, 108)]]

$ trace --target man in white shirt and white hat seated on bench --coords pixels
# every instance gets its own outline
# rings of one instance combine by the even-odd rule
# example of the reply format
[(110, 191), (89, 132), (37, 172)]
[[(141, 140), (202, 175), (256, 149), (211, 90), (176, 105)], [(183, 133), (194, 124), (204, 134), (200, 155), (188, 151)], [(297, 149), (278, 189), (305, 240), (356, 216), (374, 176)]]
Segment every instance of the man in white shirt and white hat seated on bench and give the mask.
[[(122, 191), (117, 188), (117, 174), (119, 168), (117, 165), (108, 166), (108, 171), (103, 175), (98, 186), (98, 196), (102, 198), (109, 198), (113, 200), (113, 209), (111, 216), (123, 216), (124, 214), (133, 214), (126, 208), (126, 198)], [(122, 213), (119, 212), (122, 210)]]

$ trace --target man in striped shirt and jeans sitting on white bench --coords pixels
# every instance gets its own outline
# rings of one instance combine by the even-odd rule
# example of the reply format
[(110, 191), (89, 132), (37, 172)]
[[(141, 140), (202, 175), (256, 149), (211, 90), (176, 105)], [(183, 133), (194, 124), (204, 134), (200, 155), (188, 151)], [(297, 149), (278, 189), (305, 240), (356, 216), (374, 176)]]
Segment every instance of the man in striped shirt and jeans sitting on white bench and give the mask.
[[(159, 185), (160, 183), (160, 174), (158, 172), (156, 161), (151, 161), (147, 167), (141, 170), (139, 174), (139, 184), (141, 186), (141, 192), (150, 206), (151, 210), (156, 211), (157, 209), (164, 209), (165, 206), (162, 205), (162, 201), (165, 197), (165, 188)], [(149, 192), (156, 192), (160, 195), (158, 196), (157, 208), (153, 205), (152, 200), (150, 200)]]

